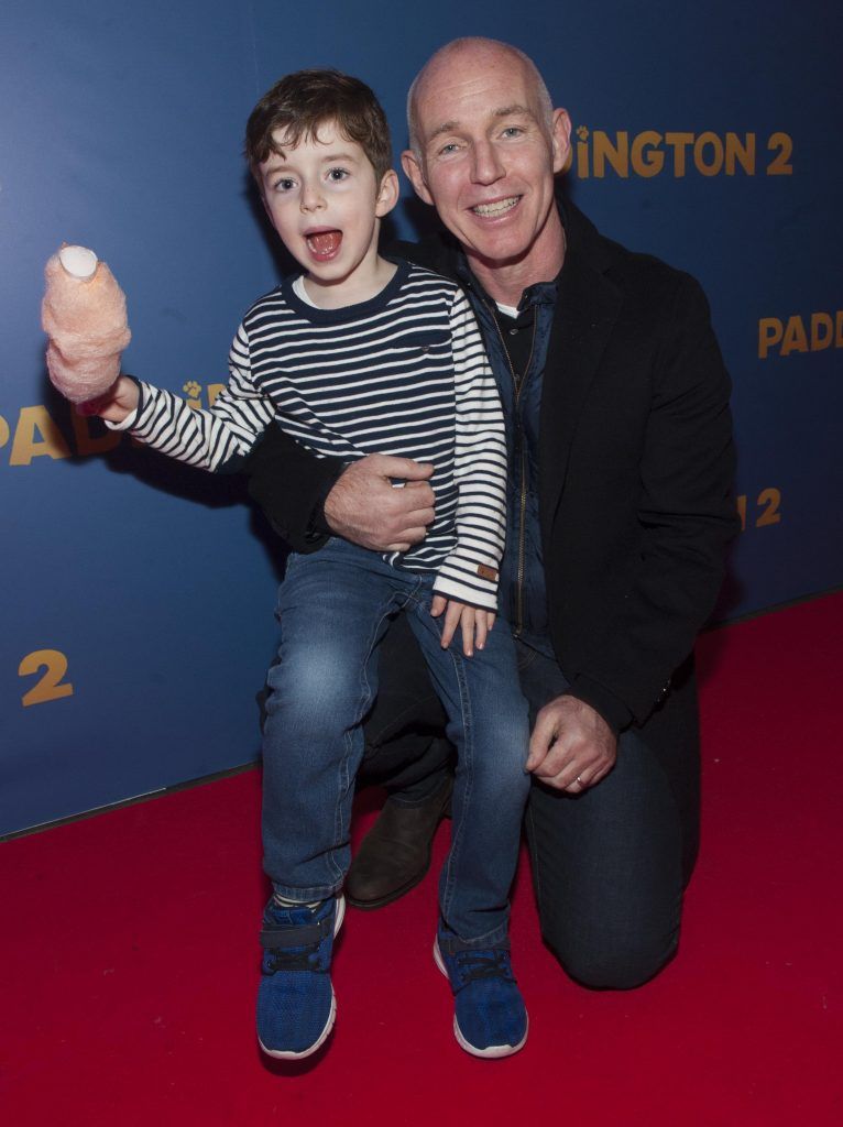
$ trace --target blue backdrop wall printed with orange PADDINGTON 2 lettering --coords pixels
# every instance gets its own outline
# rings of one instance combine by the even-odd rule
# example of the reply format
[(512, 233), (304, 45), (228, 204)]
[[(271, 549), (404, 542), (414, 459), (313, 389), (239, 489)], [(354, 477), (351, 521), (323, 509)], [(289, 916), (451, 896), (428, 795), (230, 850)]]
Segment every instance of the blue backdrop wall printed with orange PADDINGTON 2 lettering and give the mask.
[(257, 755), (283, 545), (240, 482), (72, 416), (39, 301), (56, 247), (92, 246), (128, 295), (125, 369), (206, 405), (278, 276), (240, 153), (286, 71), (360, 74), (400, 150), (407, 86), (443, 42), (531, 54), (574, 119), (571, 196), (709, 294), (745, 524), (719, 616), (843, 582), (841, 32), (820, 0), (6, 0), (0, 833)]

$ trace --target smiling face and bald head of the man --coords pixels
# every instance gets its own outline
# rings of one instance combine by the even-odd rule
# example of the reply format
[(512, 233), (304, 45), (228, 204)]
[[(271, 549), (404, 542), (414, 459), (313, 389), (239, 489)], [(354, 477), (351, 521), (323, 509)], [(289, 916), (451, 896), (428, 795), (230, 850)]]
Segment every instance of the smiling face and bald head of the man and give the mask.
[(566, 112), (551, 127), (521, 60), (467, 50), (423, 77), (416, 122), (420, 160), (406, 152), (403, 169), (469, 258), (494, 266), (530, 255), (568, 156)]

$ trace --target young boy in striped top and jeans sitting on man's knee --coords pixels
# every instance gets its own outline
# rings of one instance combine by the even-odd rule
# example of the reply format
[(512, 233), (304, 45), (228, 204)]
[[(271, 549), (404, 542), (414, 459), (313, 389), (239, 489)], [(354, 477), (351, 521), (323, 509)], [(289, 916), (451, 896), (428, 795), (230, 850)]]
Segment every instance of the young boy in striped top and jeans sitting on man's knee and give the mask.
[[(527, 1017), (508, 953), (508, 890), (529, 790), (529, 725), (509, 631), (496, 619), (505, 534), (504, 423), (480, 335), (453, 283), (378, 252), (398, 199), (374, 95), (301, 71), (255, 107), (246, 152), (269, 219), (303, 268), (260, 298), (213, 408), (121, 376), (96, 406), (112, 427), (219, 470), (277, 423), (326, 458), (431, 462), (425, 540), (381, 556), (335, 538), (291, 554), (278, 596), (281, 660), (264, 733), (264, 1051), (299, 1058), (334, 1024), (328, 975), (349, 862), (348, 824), (376, 693), (376, 647), (406, 611), (458, 748), (453, 833), (434, 949), (455, 995), (454, 1032), (506, 1056)], [(462, 653), (454, 639), (460, 627)]]

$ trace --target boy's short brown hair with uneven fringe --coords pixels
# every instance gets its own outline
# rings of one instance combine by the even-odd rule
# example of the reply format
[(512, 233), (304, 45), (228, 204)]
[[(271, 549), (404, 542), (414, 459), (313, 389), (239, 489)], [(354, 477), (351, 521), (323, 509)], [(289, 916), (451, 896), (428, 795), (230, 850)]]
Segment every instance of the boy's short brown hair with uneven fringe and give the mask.
[(273, 140), (276, 130), (291, 149), (302, 139), (318, 141), (320, 125), (330, 122), (361, 145), (380, 186), (392, 167), (387, 115), (365, 82), (337, 70), (285, 74), (255, 106), (246, 123), (246, 159), (255, 179), (260, 183), (258, 166), (281, 151)]

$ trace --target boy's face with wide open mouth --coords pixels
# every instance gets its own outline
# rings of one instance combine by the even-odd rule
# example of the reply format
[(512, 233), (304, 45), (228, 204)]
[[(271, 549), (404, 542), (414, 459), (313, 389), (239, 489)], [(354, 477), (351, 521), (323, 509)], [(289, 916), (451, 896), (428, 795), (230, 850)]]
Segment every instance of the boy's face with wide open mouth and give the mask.
[[(319, 140), (302, 140), (260, 165), (260, 190), (282, 242), (323, 285), (341, 285), (374, 269), (380, 219), (394, 207), (398, 178), (387, 172), (375, 183), (363, 148), (348, 141), (332, 122), (319, 127)], [(361, 277), (362, 279), (362, 277)]]

